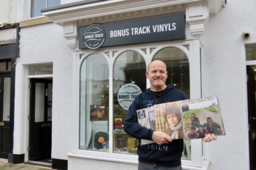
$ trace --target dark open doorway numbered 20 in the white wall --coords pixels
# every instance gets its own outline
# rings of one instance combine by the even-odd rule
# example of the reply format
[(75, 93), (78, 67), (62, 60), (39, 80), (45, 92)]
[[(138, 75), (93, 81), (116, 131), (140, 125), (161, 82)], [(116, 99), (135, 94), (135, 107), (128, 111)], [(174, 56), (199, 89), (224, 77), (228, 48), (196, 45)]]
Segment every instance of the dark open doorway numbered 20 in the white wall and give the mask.
[(30, 80), (29, 160), (51, 163), (52, 80)]

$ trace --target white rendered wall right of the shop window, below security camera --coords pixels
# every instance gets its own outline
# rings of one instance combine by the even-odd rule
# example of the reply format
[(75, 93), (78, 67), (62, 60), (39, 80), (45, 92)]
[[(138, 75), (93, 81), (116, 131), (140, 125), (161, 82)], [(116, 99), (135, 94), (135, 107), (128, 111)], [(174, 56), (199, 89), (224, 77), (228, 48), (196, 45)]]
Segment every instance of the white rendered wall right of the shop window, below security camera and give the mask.
[[(256, 43), (256, 1), (227, 1), (205, 27), (202, 95), (218, 95), (226, 136), (205, 144), (209, 169), (249, 169), (245, 44)], [(248, 39), (242, 37), (249, 30)]]

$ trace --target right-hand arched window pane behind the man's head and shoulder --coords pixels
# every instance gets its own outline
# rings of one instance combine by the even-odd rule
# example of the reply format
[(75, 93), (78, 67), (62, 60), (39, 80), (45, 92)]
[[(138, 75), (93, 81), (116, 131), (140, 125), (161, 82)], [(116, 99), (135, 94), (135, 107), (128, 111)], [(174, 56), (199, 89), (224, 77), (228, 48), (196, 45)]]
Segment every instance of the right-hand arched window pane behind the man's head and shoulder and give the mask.
[[(165, 62), (168, 71), (166, 84), (176, 86), (177, 89), (182, 90), (190, 98), (190, 66), (187, 55), (176, 47), (167, 47), (157, 52), (153, 60)], [(182, 159), (191, 159), (190, 140), (184, 140)]]

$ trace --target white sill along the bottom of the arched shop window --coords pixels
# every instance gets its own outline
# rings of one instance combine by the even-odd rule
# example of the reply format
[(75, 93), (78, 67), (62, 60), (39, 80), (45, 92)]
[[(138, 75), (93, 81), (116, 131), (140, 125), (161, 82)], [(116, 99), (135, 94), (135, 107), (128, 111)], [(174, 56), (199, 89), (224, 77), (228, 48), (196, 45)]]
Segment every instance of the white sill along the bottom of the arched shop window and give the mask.
[[(84, 155), (84, 154), (74, 154), (74, 153), (68, 153), (66, 155), (68, 155), (68, 157), (74, 157), (74, 158), (88, 158), (88, 159), (94, 159), (94, 160), (117, 161), (121, 163), (138, 164), (138, 160), (129, 160), (124, 158), (101, 157), (98, 155)], [(207, 170), (209, 163), (210, 162), (208, 160), (204, 160), (202, 167), (182, 165), (182, 169), (183, 170)]]

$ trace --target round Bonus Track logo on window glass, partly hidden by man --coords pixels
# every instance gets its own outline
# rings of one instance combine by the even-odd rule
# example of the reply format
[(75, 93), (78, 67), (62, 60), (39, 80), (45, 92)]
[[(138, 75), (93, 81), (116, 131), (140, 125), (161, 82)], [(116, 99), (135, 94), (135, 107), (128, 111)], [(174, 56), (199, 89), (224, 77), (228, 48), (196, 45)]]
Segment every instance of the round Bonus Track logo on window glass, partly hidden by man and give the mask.
[(128, 110), (134, 98), (141, 93), (140, 87), (136, 84), (124, 84), (118, 91), (118, 103), (124, 110)]

